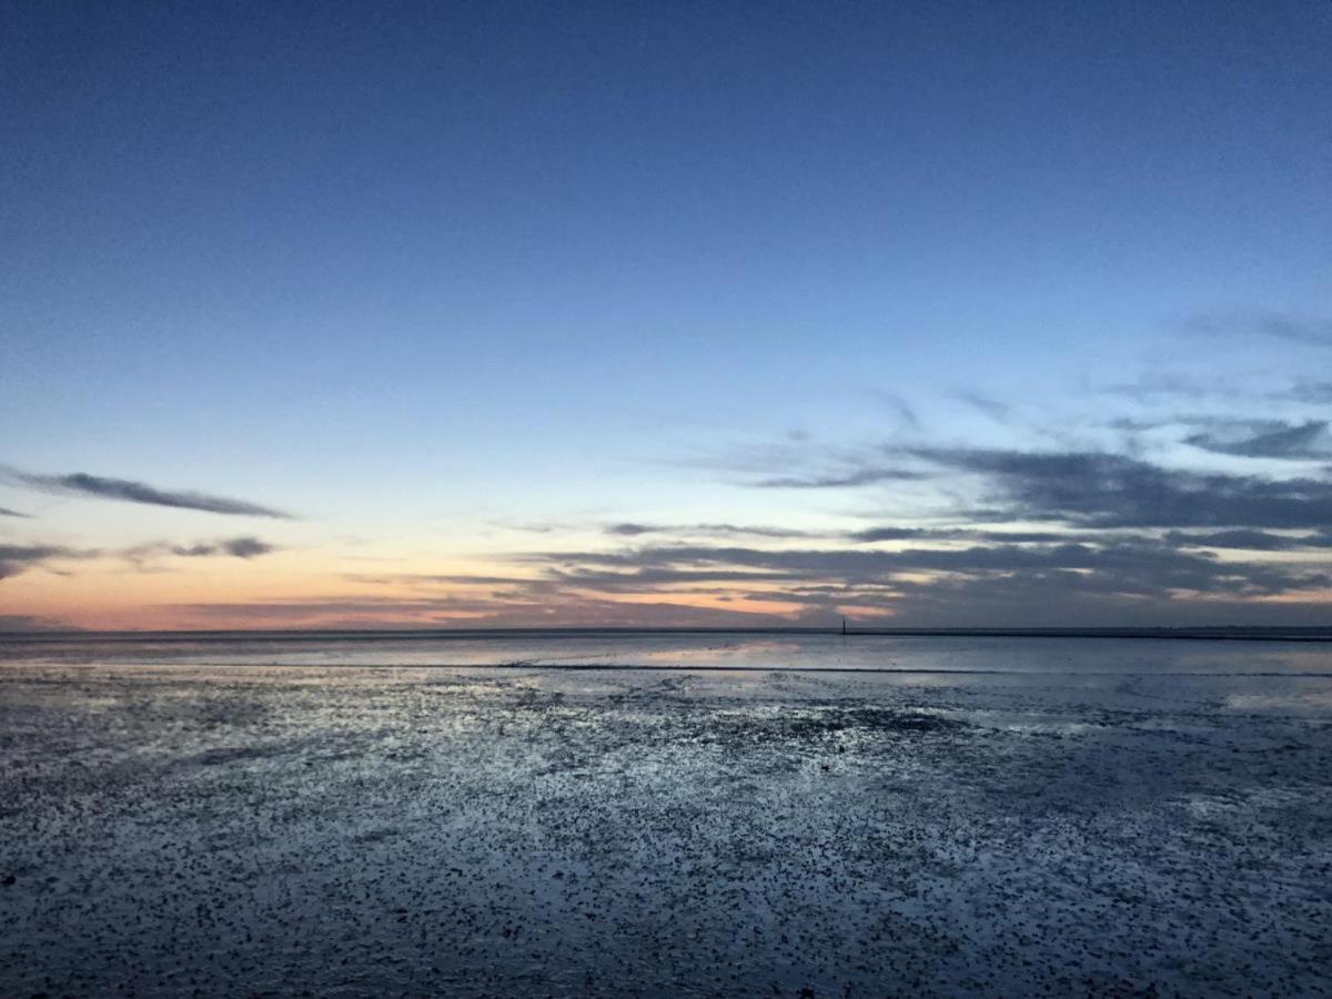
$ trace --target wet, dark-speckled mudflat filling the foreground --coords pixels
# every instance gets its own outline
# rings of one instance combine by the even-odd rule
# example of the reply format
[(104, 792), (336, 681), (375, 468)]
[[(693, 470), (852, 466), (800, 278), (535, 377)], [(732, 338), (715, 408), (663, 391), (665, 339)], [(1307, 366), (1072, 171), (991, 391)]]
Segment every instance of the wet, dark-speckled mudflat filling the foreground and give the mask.
[(7, 665), (4, 995), (1327, 995), (1332, 679)]

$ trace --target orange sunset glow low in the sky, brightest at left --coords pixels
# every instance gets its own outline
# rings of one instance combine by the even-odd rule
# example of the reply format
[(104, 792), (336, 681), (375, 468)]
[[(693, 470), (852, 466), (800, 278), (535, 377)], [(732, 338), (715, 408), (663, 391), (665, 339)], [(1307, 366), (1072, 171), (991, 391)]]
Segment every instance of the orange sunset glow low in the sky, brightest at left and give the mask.
[[(408, 547), (408, 546), (402, 546)], [(533, 566), (538, 567), (533, 567)], [(701, 586), (642, 582), (613, 575), (605, 590), (581, 585), (577, 574), (543, 575), (539, 558), (507, 553), (492, 558), (389, 547), (334, 551), (278, 549), (256, 558), (189, 558), (156, 554), (143, 559), (107, 554), (51, 567), (37, 566), (0, 582), (0, 625), (92, 630), (214, 630), (292, 627), (449, 626), (689, 626), (791, 625), (844, 615), (860, 622), (899, 619), (888, 582), (875, 582), (844, 602), (791, 599), (773, 578)], [(928, 571), (892, 579), (928, 586)], [(995, 579), (1002, 587), (1003, 581)], [(836, 593), (836, 590), (831, 590)], [(870, 602), (866, 602), (867, 594)], [(1179, 594), (1180, 606), (1207, 607), (1224, 597)], [(878, 602), (875, 602), (878, 601)], [(1332, 603), (1332, 591), (1305, 590), (1248, 598), (1252, 605)]]

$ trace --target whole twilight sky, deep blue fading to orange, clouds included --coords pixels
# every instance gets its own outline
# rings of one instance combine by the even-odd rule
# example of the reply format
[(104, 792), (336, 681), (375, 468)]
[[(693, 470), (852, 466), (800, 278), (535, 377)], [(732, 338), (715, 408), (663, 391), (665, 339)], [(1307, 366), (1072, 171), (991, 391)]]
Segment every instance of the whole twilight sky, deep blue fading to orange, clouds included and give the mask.
[(0, 25), (0, 629), (1332, 621), (1321, 0)]

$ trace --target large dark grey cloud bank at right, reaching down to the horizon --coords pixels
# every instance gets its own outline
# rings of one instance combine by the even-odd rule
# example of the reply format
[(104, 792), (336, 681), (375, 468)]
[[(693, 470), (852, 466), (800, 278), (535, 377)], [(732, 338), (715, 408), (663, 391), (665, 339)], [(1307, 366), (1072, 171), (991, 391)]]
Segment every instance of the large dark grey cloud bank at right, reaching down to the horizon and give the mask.
[[(1325, 428), (1212, 421), (1207, 429), (1247, 452), (1289, 454)], [(1272, 436), (1292, 429), (1300, 433)], [(799, 466), (801, 456), (794, 458)], [(1224, 623), (1225, 614), (1261, 622), (1252, 607), (1275, 607), (1269, 621), (1308, 623), (1319, 594), (1332, 586), (1323, 554), (1332, 547), (1327, 473), (1281, 478), (1094, 450), (880, 445), (843, 452), (838, 474), (791, 480), (855, 488), (884, 470), (898, 477), (902, 469), (890, 460), (904, 462), (908, 477), (948, 482), (956, 519), (823, 534), (630, 521), (606, 527), (630, 542), (619, 547), (531, 551), (511, 557), (521, 566), (513, 577), (421, 585), (466, 586), (468, 613), (488, 621), (492, 611), (517, 622), (531, 609), (558, 607), (610, 622), (617, 607), (633, 615), (627, 609), (642, 602), (735, 601), (750, 611), (777, 607), (774, 623), (850, 613), (862, 621), (1010, 626)], [(710, 531), (721, 543), (707, 543)], [(695, 537), (661, 543), (666, 534)], [(791, 543), (725, 542), (745, 534)], [(795, 543), (811, 537), (819, 543)], [(585, 603), (597, 611), (579, 618)]]

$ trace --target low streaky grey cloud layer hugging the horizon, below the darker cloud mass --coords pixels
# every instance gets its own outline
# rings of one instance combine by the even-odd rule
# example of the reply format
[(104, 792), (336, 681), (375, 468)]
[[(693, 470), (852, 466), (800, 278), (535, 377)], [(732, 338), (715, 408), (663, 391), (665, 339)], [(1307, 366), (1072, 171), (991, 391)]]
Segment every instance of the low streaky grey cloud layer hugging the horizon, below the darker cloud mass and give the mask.
[[(531, 551), (510, 557), (515, 565), (510, 575), (357, 575), (352, 581), (361, 586), (393, 587), (394, 593), (318, 606), (264, 605), (256, 617), (310, 625), (400, 615), (418, 625), (496, 627), (543, 622), (737, 626), (741, 621), (829, 623), (848, 613), (859, 621), (911, 625), (1071, 626), (1224, 623), (1223, 614), (1235, 613), (1261, 623), (1256, 611), (1241, 610), (1253, 603), (1276, 607), (1267, 621), (1308, 623), (1317, 602), (1300, 595), (1332, 585), (1323, 558), (1275, 562), (1223, 558), (1209, 550), (1307, 549), (1312, 554), (1332, 543), (1323, 533), (972, 527), (863, 533), (870, 531), (875, 537), (891, 531), (892, 539), (908, 546), (888, 550), (834, 542), (774, 549), (677, 542)], [(402, 586), (412, 591), (404, 595)], [(1283, 602), (1271, 603), (1275, 598)], [(225, 617), (228, 611), (217, 613)]]

